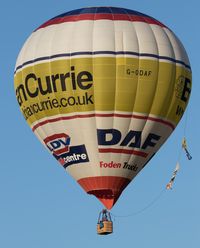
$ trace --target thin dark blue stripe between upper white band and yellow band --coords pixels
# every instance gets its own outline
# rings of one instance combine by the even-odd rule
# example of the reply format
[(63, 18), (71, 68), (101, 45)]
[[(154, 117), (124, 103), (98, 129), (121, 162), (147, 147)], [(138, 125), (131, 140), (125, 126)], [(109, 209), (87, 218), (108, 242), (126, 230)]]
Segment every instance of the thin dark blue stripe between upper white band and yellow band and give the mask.
[(170, 62), (174, 62), (176, 64), (181, 64), (183, 66), (185, 66), (186, 68), (191, 70), (190, 65), (187, 65), (186, 63), (184, 63), (181, 60), (176, 60), (167, 56), (159, 56), (156, 54), (150, 54), (150, 53), (136, 53), (136, 52), (129, 52), (129, 51), (119, 51), (119, 52), (114, 52), (114, 51), (94, 51), (94, 52), (74, 52), (74, 53), (61, 53), (61, 54), (55, 54), (52, 56), (44, 56), (44, 57), (40, 57), (40, 58), (36, 58), (33, 60), (29, 60), (24, 62), (22, 65), (17, 66), (14, 74), (21, 68), (23, 68), (26, 65), (30, 65), (33, 64), (35, 62), (38, 61), (45, 61), (45, 60), (50, 60), (50, 59), (55, 59), (55, 58), (61, 58), (61, 57), (73, 57), (73, 56), (77, 56), (77, 55), (134, 55), (137, 57), (149, 57), (149, 58), (156, 58), (156, 59), (163, 59), (163, 60), (167, 60)]

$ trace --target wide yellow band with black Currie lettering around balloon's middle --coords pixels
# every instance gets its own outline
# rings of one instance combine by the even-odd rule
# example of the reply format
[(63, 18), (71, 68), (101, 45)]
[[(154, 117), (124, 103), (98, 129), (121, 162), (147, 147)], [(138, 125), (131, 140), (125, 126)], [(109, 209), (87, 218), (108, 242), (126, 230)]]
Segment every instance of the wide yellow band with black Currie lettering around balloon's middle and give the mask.
[(62, 59), (23, 68), (15, 75), (15, 88), (29, 124), (93, 110), (134, 111), (178, 123), (189, 99), (191, 72), (153, 59)]

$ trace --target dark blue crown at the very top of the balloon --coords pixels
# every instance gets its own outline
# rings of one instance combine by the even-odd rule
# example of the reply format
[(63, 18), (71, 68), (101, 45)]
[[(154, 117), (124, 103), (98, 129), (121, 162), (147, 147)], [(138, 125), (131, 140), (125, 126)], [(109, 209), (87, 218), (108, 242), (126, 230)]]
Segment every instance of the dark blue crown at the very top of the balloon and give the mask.
[(144, 16), (144, 17), (152, 18), (151, 16), (130, 9), (117, 8), (117, 7), (90, 7), (90, 8), (72, 10), (63, 13), (61, 15), (55, 16), (51, 20), (56, 18), (62, 18), (64, 16), (81, 15), (81, 14), (126, 14), (126, 15), (136, 15), (136, 16)]

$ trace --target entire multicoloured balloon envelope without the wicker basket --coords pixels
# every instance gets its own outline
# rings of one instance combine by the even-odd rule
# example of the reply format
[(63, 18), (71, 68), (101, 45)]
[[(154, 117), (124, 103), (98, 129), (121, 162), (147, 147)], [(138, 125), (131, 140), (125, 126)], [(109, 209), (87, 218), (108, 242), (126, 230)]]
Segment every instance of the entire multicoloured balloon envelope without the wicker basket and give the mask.
[(111, 209), (183, 116), (191, 67), (179, 39), (156, 19), (89, 7), (34, 30), (14, 83), (34, 134)]

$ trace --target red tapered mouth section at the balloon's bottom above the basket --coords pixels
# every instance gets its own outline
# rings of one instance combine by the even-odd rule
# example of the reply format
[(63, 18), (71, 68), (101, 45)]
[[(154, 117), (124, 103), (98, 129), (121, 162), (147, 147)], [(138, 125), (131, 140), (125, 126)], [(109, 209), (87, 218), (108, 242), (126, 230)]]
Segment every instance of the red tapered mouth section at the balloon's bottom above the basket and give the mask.
[(130, 179), (116, 176), (87, 177), (78, 180), (80, 186), (107, 208), (111, 209), (122, 191), (130, 183)]

